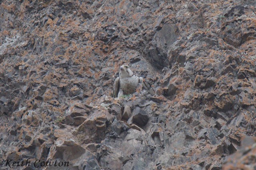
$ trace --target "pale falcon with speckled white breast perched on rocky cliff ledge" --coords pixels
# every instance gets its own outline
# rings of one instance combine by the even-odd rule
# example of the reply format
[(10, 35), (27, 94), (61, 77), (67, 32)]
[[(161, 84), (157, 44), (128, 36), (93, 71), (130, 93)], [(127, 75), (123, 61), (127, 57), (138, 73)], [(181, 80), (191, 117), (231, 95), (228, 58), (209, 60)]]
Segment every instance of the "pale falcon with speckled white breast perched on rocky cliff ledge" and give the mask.
[(114, 81), (114, 98), (134, 93), (142, 82), (143, 78), (135, 76), (129, 66), (120, 66), (119, 77)]

